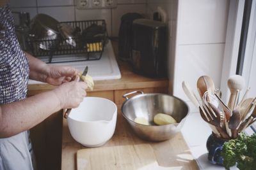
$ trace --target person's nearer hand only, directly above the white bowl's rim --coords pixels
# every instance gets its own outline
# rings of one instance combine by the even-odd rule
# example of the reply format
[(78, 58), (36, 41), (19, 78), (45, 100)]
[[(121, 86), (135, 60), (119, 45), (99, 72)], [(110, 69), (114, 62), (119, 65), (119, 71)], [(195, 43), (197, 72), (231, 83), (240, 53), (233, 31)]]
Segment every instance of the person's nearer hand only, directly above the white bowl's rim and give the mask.
[(53, 90), (60, 101), (61, 108), (77, 108), (86, 96), (87, 85), (83, 81), (63, 83)]

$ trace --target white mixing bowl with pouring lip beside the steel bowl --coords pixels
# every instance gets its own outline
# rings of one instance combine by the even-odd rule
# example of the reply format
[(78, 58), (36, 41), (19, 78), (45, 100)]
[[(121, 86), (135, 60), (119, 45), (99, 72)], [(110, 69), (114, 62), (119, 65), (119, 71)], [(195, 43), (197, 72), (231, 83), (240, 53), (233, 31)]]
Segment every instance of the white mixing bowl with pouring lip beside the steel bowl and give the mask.
[(84, 97), (78, 108), (68, 115), (71, 136), (87, 147), (104, 145), (114, 134), (116, 104), (101, 97)]

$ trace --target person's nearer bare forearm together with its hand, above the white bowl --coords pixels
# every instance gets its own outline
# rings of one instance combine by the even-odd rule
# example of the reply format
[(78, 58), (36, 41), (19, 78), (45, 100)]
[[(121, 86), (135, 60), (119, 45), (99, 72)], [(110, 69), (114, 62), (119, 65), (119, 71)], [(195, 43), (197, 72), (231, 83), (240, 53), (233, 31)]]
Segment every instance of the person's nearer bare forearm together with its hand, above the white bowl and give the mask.
[(0, 105), (0, 138), (26, 131), (62, 108), (76, 108), (86, 89), (83, 81), (71, 81), (49, 92)]

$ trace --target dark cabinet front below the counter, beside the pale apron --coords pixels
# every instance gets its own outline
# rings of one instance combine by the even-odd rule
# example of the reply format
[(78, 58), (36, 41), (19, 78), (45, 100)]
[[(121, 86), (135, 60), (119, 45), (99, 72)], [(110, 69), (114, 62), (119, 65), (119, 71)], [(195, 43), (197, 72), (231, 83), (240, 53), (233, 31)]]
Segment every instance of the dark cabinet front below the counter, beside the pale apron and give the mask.
[(30, 130), (38, 170), (61, 169), (62, 122), (60, 110)]

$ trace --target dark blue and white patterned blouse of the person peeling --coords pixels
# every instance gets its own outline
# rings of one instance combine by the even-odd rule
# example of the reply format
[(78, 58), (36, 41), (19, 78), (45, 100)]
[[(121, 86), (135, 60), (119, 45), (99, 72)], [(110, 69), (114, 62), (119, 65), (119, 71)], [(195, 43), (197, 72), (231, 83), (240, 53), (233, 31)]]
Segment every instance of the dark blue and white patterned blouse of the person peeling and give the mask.
[(28, 59), (15, 35), (10, 8), (0, 8), (0, 104), (24, 99), (29, 76)]

